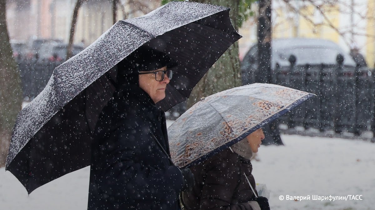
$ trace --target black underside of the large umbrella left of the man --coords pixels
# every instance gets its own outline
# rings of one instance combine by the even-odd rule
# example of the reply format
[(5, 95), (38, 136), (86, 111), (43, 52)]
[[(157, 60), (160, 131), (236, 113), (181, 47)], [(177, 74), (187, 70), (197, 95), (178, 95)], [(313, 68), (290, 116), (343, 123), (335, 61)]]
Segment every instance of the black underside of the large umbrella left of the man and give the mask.
[(17, 172), (27, 191), (90, 164), (93, 128), (115, 91), (116, 74), (111, 69), (59, 109), (15, 156), (18, 167), (7, 170)]

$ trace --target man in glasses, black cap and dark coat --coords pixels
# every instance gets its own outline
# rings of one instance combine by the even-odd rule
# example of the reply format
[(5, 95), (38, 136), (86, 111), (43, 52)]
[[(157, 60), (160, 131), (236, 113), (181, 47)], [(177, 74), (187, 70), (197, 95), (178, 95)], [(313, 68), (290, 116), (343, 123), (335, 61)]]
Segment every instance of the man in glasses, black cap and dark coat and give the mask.
[(116, 65), (116, 91), (95, 129), (88, 209), (180, 209), (178, 196), (194, 177), (170, 160), (165, 114), (157, 106), (176, 66), (150, 47)]

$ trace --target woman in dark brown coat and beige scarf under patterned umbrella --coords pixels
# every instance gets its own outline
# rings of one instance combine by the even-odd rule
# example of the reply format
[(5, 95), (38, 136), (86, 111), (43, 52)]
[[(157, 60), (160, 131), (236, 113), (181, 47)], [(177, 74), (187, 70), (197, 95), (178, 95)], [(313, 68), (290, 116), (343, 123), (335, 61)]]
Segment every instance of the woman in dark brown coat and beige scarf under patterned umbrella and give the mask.
[(258, 152), (263, 139), (263, 130), (258, 129), (228, 149), (192, 166), (196, 184), (192, 191), (183, 195), (185, 207), (189, 210), (270, 209), (267, 198), (255, 196), (255, 180), (251, 174), (250, 159), (253, 152)]

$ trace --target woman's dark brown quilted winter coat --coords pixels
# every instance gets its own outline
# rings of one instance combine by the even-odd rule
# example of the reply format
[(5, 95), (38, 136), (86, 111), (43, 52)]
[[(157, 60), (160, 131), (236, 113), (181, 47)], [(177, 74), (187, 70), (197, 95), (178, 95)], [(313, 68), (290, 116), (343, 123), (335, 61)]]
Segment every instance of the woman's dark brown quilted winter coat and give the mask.
[(244, 175), (255, 189), (250, 160), (225, 149), (190, 169), (195, 186), (183, 197), (189, 210), (252, 210), (255, 195)]

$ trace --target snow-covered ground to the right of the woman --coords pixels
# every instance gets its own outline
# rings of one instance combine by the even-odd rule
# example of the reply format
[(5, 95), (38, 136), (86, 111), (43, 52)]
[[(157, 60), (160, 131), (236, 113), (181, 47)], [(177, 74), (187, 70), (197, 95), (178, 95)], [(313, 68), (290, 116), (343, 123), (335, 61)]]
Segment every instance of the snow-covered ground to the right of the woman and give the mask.
[[(270, 190), (271, 209), (374, 209), (374, 143), (298, 135), (282, 139), (285, 146), (263, 146), (260, 161), (252, 161), (255, 181)], [(287, 195), (310, 195), (310, 200), (286, 200)], [(313, 195), (362, 200), (312, 200)]]

